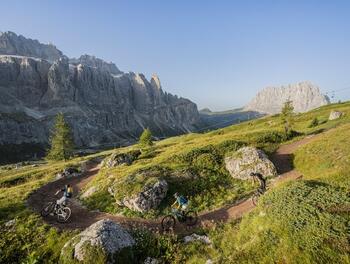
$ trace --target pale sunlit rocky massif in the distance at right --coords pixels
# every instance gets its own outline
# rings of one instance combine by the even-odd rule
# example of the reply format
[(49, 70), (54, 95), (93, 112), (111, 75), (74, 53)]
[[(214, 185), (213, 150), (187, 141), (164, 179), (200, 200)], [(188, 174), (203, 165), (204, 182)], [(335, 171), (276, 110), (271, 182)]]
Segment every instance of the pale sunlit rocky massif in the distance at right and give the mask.
[(281, 87), (267, 87), (260, 91), (254, 99), (245, 106), (245, 110), (267, 114), (281, 112), (283, 104), (291, 100), (295, 112), (307, 112), (311, 109), (329, 104), (329, 98), (310, 82), (300, 82)]

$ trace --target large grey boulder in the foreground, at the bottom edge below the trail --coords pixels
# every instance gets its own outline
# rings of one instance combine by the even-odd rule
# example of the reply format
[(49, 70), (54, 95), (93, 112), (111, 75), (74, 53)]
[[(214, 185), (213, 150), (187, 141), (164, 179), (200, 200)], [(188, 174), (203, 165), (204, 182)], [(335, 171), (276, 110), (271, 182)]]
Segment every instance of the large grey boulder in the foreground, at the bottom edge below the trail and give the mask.
[(61, 263), (132, 263), (134, 245), (135, 240), (124, 228), (104, 219), (68, 241), (60, 260)]

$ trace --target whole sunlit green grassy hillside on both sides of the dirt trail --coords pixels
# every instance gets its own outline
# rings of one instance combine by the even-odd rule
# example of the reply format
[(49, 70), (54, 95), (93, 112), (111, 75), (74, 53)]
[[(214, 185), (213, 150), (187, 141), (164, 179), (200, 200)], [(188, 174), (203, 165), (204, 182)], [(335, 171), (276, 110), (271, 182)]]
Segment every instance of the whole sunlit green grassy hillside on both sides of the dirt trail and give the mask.
[[(332, 109), (346, 115), (327, 121)], [(309, 127), (317, 117), (321, 124)], [(305, 176), (303, 181), (286, 183), (270, 191), (258, 207), (241, 222), (213, 225), (199, 230), (209, 234), (213, 245), (184, 245), (181, 238), (140, 232), (137, 254), (154, 256), (168, 262), (205, 263), (348, 263), (349, 258), (349, 145), (350, 103), (335, 104), (296, 116), (294, 129), (303, 135), (327, 132), (324, 137), (296, 153), (295, 166)], [(86, 187), (99, 191), (85, 201), (91, 208), (136, 215), (119, 208), (107, 192), (115, 185), (118, 195), (136, 192), (150, 178), (126, 181), (139, 170), (149, 170), (152, 177), (164, 177), (170, 190), (160, 210), (143, 217), (164, 213), (172, 201), (172, 193), (180, 190), (189, 195), (198, 210), (211, 210), (248, 196), (255, 188), (232, 179), (223, 169), (223, 158), (242, 145), (255, 145), (272, 153), (285, 140), (278, 115), (241, 123), (206, 134), (188, 134), (157, 142), (143, 149), (131, 166), (103, 169)], [(296, 140), (297, 138), (291, 139)], [(138, 146), (95, 154), (128, 152)], [(78, 164), (78, 158), (69, 164)], [(54, 179), (68, 163), (51, 163), (39, 167), (0, 167), (0, 263), (57, 263), (63, 244), (74, 232), (59, 232), (43, 223), (26, 207), (33, 190)], [(184, 177), (198, 175), (195, 181)], [(130, 179), (130, 178), (129, 178)], [(5, 222), (16, 219), (13, 226)], [(45, 261), (44, 261), (45, 260)]]

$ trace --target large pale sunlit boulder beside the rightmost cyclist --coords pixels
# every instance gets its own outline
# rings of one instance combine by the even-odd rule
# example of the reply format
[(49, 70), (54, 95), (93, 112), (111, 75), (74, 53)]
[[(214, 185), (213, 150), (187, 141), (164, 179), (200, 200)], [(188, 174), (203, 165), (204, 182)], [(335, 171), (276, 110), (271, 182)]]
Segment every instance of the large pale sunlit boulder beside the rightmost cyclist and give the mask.
[(226, 169), (234, 178), (250, 179), (250, 173), (259, 172), (263, 176), (276, 176), (277, 171), (266, 154), (254, 147), (239, 149), (232, 156), (225, 158)]

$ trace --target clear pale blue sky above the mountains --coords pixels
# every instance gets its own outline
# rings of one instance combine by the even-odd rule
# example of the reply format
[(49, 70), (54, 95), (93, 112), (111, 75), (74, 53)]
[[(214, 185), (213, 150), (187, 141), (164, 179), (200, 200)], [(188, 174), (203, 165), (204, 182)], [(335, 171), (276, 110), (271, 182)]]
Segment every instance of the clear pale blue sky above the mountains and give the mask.
[[(350, 88), (350, 1), (1, 1), (0, 31), (157, 73), (199, 108), (246, 104), (268, 85)], [(350, 89), (335, 99), (350, 99)]]

